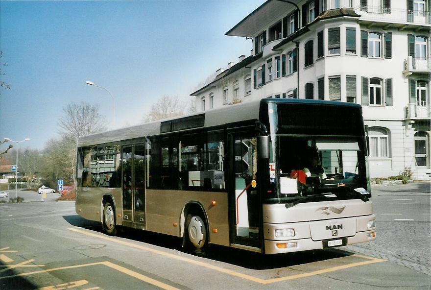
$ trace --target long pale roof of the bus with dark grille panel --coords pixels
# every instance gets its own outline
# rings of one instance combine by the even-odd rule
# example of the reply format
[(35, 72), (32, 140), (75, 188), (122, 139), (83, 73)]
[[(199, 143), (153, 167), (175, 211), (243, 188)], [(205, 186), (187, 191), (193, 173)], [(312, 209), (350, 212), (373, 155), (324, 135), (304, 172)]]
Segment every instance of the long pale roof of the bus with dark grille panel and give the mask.
[(160, 135), (168, 132), (177, 132), (191, 128), (213, 127), (224, 125), (227, 123), (258, 120), (260, 106), (261, 104), (265, 103), (322, 104), (349, 107), (357, 106), (358, 108), (361, 108), (359, 104), (340, 101), (292, 98), (264, 98), (234, 105), (225, 105), (221, 108), (216, 108), (205, 112), (193, 113), (190, 115), (180, 116), (176, 118), (158, 120), (141, 125), (83, 136), (80, 137), (78, 140), (78, 147), (106, 144), (111, 142)]

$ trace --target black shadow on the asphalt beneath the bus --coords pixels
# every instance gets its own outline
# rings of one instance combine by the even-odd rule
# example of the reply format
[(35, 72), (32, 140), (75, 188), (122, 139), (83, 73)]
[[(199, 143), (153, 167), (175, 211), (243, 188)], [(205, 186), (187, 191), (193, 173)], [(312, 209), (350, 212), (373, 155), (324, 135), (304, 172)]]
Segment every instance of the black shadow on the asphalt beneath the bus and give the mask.
[[(100, 222), (86, 220), (78, 215), (64, 216), (63, 218), (73, 226), (87, 228), (105, 235)], [(117, 235), (131, 241), (144, 242), (159, 247), (185, 252), (182, 248), (182, 238), (131, 228), (120, 228)], [(326, 261), (350, 255), (353, 255), (353, 253), (341, 249), (314, 250), (282, 255), (262, 255), (259, 253), (211, 244), (207, 250), (206, 258), (249, 269), (263, 270)]]

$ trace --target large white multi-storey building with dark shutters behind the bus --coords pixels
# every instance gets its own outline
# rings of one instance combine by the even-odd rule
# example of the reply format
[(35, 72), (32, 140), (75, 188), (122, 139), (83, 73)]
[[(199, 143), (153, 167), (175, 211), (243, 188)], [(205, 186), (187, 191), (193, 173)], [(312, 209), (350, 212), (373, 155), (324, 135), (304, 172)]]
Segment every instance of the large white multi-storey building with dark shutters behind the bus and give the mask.
[(430, 27), (430, 0), (267, 0), (226, 32), (251, 38), (251, 55), (191, 96), (198, 111), (265, 97), (359, 103), (370, 176), (410, 168), (427, 180)]

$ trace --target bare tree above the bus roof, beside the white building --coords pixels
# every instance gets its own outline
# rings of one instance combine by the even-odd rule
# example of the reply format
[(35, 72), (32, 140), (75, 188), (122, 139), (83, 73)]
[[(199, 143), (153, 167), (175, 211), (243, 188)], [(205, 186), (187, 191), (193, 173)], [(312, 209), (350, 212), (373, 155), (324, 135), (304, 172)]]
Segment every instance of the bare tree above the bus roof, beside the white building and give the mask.
[(185, 102), (178, 96), (165, 95), (151, 106), (150, 112), (142, 118), (144, 123), (184, 115)]

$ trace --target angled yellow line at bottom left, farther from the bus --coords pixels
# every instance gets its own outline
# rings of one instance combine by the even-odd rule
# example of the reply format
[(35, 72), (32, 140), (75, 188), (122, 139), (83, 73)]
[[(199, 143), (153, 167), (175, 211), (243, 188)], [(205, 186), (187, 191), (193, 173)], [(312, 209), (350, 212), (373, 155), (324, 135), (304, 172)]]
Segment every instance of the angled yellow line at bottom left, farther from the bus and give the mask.
[[(52, 272), (52, 271), (58, 271), (58, 270), (66, 270), (66, 269), (74, 269), (74, 268), (79, 268), (79, 267), (85, 267), (85, 266), (95, 266), (95, 265), (103, 265), (103, 266), (108, 266), (114, 270), (120, 271), (124, 274), (127, 274), (129, 276), (132, 276), (136, 279), (139, 279), (141, 281), (147, 282), (149, 284), (152, 284), (154, 286), (157, 286), (159, 288), (165, 289), (165, 290), (179, 290), (178, 288), (175, 288), (173, 286), (170, 286), (168, 284), (165, 284), (163, 282), (157, 281), (155, 279), (152, 279), (150, 277), (144, 276), (138, 272), (129, 270), (125, 267), (119, 266), (117, 264), (105, 261), (105, 262), (96, 262), (96, 263), (89, 263), (89, 264), (83, 264), (83, 265), (73, 265), (73, 266), (64, 266), (64, 267), (58, 267), (58, 268), (52, 268), (52, 269), (46, 269), (46, 270), (40, 270), (40, 271), (34, 271), (34, 272), (26, 272), (26, 273), (21, 273), (21, 274), (17, 274), (17, 275), (11, 275), (11, 276), (6, 276), (6, 277), (0, 277), (1, 279), (6, 279), (6, 278), (14, 278), (14, 277), (22, 277), (22, 276), (28, 276), (28, 275), (34, 275), (34, 274), (40, 274), (40, 273), (48, 273), (48, 272)], [(98, 289), (98, 288), (93, 288), (93, 289)]]

